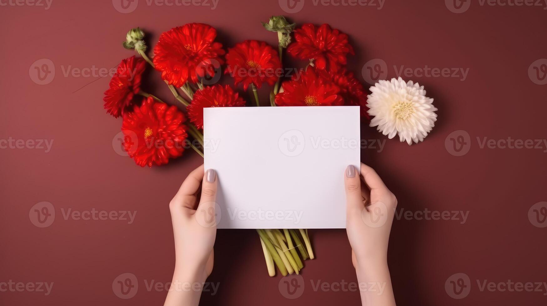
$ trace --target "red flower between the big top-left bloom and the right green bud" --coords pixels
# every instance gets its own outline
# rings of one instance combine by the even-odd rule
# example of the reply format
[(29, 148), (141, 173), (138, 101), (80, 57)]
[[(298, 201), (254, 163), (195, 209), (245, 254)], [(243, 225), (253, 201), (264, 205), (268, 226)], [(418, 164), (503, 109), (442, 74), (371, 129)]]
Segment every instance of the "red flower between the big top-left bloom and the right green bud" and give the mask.
[(258, 88), (262, 83), (274, 85), (278, 78), (281, 62), (277, 51), (270, 45), (257, 40), (245, 40), (228, 50), (226, 55), (228, 69), (224, 73), (235, 79), (235, 85), (243, 83), (243, 89), (254, 84)]

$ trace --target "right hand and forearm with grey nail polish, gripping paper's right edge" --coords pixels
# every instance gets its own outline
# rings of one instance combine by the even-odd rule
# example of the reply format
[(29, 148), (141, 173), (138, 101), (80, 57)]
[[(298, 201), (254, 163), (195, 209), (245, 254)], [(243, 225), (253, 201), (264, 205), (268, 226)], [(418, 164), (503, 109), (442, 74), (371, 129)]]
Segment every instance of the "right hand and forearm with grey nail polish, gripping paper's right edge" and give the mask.
[[(387, 245), (397, 199), (373, 168), (361, 163), (361, 175), (348, 166), (346, 231), (363, 305), (395, 305), (387, 266)], [(363, 180), (364, 182), (363, 182)]]

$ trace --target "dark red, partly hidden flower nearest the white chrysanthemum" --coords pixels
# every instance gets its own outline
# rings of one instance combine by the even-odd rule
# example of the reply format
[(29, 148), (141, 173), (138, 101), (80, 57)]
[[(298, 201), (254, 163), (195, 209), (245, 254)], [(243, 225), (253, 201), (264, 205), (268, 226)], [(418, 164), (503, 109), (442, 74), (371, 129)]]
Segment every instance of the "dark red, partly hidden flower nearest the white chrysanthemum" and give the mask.
[(365, 90), (363, 85), (353, 76), (353, 72), (342, 68), (337, 72), (330, 72), (329, 75), (334, 84), (340, 87), (340, 94), (344, 98), (344, 104), (359, 106), (361, 116), (370, 120), (369, 114), (366, 113), (369, 108), (366, 107)]

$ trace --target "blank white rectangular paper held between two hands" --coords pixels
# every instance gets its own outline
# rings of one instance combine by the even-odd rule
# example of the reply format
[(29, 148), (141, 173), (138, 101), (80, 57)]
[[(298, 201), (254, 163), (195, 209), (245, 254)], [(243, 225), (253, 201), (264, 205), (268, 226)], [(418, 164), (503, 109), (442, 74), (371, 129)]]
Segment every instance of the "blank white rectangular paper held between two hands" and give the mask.
[(360, 168), (359, 107), (206, 108), (203, 122), (218, 228), (346, 227), (344, 173)]

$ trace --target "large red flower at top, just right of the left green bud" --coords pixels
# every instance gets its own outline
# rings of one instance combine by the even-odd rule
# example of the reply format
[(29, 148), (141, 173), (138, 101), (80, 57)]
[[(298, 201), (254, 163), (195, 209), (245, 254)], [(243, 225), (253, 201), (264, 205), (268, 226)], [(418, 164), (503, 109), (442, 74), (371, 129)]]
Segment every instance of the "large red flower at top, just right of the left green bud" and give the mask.
[(197, 83), (197, 77), (213, 77), (224, 63), (220, 56), (225, 54), (222, 44), (214, 42), (216, 37), (217, 30), (203, 23), (188, 23), (162, 33), (154, 48), (154, 65), (161, 78), (181, 87), (188, 79)]

